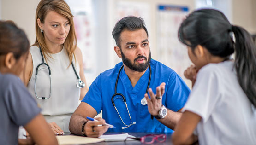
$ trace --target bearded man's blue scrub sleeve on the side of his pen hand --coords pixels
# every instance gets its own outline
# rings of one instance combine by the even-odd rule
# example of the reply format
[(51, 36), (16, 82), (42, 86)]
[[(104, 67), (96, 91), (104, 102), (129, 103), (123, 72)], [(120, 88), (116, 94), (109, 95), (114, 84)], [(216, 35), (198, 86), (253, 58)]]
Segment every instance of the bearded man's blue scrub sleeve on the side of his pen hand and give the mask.
[(89, 91), (81, 102), (91, 105), (99, 114), (102, 110), (101, 75), (90, 85)]

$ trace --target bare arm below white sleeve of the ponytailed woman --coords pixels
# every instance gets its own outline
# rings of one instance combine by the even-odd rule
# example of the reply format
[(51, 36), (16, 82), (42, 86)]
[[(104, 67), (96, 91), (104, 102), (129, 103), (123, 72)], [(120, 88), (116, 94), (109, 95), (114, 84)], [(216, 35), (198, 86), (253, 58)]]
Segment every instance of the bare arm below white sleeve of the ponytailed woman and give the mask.
[(175, 132), (172, 135), (172, 141), (174, 145), (190, 145), (197, 141), (197, 136), (193, 134), (198, 122), (200, 122), (201, 116), (191, 112), (185, 111), (175, 128)]

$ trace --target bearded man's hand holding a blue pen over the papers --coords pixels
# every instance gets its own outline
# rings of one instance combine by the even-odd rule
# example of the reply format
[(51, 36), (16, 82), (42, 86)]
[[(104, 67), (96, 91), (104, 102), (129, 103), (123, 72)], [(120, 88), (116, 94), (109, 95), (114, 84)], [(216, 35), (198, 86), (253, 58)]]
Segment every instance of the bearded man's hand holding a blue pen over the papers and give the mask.
[(99, 137), (103, 133), (107, 131), (109, 128), (107, 125), (104, 125), (106, 122), (104, 119), (101, 117), (95, 118), (98, 122), (96, 121), (88, 121), (85, 124), (84, 131), (86, 136), (88, 137)]

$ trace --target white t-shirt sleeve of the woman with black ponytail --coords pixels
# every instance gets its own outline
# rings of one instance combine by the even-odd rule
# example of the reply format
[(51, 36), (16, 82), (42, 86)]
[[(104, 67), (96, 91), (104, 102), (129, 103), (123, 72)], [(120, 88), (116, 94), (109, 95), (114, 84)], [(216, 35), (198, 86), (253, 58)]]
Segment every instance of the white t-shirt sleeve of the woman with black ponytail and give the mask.
[(219, 79), (214, 68), (202, 68), (196, 77), (189, 99), (183, 110), (189, 110), (206, 122), (220, 99)]

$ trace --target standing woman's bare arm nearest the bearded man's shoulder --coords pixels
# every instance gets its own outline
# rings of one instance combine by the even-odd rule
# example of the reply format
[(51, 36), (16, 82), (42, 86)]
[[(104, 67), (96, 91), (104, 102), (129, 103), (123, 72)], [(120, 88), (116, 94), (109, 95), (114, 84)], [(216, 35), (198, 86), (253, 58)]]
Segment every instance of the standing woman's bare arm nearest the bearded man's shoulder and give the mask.
[(79, 67), (80, 67), (80, 72), (79, 72), (80, 79), (85, 83), (85, 87), (81, 88), (81, 93), (80, 93), (79, 100), (82, 100), (83, 97), (85, 96), (85, 94), (88, 92), (88, 87), (87, 87), (86, 79), (85, 79), (84, 72), (83, 72), (83, 56), (82, 56), (82, 51), (79, 47), (76, 48), (74, 53), (76, 55), (76, 58), (77, 58), (77, 61), (79, 63)]

